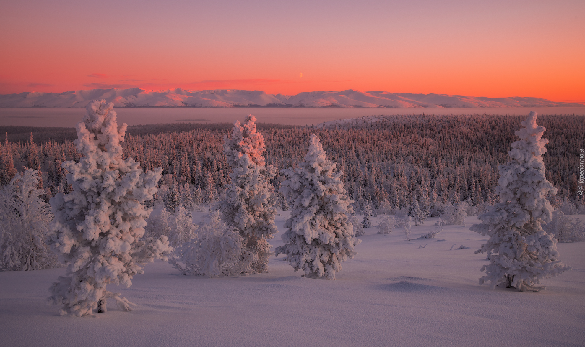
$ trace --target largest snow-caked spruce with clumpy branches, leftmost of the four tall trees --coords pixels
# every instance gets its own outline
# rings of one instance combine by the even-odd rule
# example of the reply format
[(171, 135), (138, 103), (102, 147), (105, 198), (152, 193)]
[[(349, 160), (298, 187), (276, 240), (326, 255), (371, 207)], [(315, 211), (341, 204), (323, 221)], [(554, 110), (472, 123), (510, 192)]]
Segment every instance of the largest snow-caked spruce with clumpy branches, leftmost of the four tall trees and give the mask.
[(144, 263), (165, 259), (171, 251), (167, 237), (142, 238), (151, 211), (142, 203), (152, 199), (162, 169), (142, 172), (134, 159), (122, 159), (125, 131), (126, 124), (118, 128), (112, 103), (92, 100), (77, 123), (80, 162), (63, 163), (73, 192), (51, 198), (55, 218), (49, 239), (60, 260), (68, 262), (66, 276), (50, 288), (49, 301), (63, 305), (61, 314), (105, 311), (108, 298), (130, 310), (132, 303), (108, 292), (107, 284), (130, 286)]

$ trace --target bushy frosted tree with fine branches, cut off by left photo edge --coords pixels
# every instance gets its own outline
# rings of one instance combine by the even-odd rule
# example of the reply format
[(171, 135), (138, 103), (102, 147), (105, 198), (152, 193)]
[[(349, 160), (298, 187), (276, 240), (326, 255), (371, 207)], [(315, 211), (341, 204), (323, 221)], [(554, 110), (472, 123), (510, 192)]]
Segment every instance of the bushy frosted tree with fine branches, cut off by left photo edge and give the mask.
[(0, 189), (0, 271), (24, 271), (54, 268), (57, 256), (45, 243), (50, 206), (37, 188), (40, 172), (26, 169), (16, 173)]

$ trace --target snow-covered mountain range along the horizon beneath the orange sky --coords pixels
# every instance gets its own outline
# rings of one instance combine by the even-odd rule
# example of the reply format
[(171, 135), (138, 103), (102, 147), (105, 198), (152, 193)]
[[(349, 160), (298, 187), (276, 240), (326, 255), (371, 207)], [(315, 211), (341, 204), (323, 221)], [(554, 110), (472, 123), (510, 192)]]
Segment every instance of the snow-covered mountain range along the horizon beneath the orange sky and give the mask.
[(384, 91), (302, 92), (297, 95), (263, 91), (218, 89), (194, 91), (167, 89), (91, 89), (63, 93), (23, 92), (0, 95), (0, 107), (82, 108), (93, 99), (106, 99), (115, 107), (585, 107), (580, 103), (553, 102), (541, 98), (485, 98), (448, 94), (411, 94)]

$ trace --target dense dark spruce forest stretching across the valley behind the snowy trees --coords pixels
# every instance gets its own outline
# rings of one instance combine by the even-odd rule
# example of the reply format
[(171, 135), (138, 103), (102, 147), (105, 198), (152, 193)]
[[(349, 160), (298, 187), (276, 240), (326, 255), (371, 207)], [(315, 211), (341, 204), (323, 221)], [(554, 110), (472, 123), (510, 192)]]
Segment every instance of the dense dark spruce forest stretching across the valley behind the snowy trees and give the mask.
[[(414, 199), (435, 204), (466, 200), (472, 206), (493, 204), (498, 197), (498, 165), (509, 161), (511, 143), (525, 116), (370, 116), (318, 126), (259, 123), (266, 140), (267, 164), (276, 166), (271, 183), (278, 192), (284, 180), (280, 169), (297, 167), (316, 134), (330, 159), (338, 163), (355, 209), (366, 202), (378, 210), (411, 206)], [(585, 145), (585, 116), (543, 115), (548, 152), (546, 176), (558, 195), (553, 206), (583, 209), (577, 194), (577, 164)], [(123, 148), (126, 157), (144, 169), (163, 168), (159, 196), (178, 188), (181, 199), (195, 204), (218, 200), (229, 183), (230, 167), (223, 155), (223, 137), (233, 124), (174, 123), (129, 126)], [(67, 192), (61, 162), (78, 161), (73, 128), (2, 126), (0, 179), (6, 184), (23, 166), (43, 173), (47, 196)], [(278, 206), (287, 209), (284, 196)], [(574, 212), (573, 212), (574, 213)]]

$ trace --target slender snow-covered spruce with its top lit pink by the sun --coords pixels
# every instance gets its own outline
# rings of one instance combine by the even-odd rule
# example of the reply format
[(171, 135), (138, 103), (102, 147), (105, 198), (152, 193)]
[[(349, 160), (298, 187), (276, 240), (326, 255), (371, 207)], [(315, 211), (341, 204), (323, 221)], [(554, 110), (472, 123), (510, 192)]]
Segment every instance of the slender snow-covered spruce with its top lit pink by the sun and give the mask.
[(272, 165), (266, 165), (262, 152), (264, 138), (256, 131), (256, 117), (248, 114), (246, 122), (236, 120), (232, 138), (224, 138), (229, 174), (232, 183), (225, 192), (225, 200), (215, 203), (223, 221), (236, 228), (242, 235), (245, 249), (257, 256), (253, 272), (268, 272), (268, 262), (273, 254), (268, 240), (278, 233), (274, 217), (276, 195), (271, 192), (270, 179), (275, 176)]

